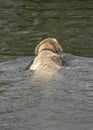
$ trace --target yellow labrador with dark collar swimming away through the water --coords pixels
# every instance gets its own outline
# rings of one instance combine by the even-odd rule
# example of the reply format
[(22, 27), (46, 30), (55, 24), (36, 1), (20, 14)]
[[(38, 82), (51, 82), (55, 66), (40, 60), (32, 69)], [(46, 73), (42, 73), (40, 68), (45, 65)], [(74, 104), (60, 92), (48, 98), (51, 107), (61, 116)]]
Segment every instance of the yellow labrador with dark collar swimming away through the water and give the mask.
[(62, 52), (61, 45), (54, 38), (46, 38), (35, 48), (36, 58), (30, 66), (30, 70), (38, 71), (39, 74), (55, 72), (61, 68), (62, 60), (58, 55)]

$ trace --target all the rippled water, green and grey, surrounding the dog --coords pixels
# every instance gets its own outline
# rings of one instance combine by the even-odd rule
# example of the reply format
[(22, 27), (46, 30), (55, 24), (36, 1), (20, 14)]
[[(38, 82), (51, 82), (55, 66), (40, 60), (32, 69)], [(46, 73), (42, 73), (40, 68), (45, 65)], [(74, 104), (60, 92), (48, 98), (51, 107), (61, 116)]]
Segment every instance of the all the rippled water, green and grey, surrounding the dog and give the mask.
[[(93, 129), (93, 2), (0, 1), (0, 129)], [(61, 77), (27, 66), (46, 37), (62, 44)]]

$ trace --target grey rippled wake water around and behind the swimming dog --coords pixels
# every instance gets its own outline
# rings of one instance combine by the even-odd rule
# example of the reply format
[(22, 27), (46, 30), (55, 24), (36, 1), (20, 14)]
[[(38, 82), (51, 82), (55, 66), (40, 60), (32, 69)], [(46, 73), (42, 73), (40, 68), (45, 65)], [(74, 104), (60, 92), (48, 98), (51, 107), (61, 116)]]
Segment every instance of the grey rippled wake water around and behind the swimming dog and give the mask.
[(93, 129), (93, 59), (62, 57), (56, 80), (33, 78), (31, 57), (0, 63), (1, 129)]

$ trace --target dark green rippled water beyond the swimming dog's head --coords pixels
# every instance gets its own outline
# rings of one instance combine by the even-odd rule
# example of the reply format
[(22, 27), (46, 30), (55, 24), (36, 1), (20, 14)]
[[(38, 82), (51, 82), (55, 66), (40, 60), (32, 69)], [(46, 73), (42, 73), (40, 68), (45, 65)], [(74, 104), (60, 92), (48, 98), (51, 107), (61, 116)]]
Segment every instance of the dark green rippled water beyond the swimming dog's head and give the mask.
[(0, 1), (0, 61), (34, 55), (46, 37), (66, 53), (93, 57), (93, 1)]

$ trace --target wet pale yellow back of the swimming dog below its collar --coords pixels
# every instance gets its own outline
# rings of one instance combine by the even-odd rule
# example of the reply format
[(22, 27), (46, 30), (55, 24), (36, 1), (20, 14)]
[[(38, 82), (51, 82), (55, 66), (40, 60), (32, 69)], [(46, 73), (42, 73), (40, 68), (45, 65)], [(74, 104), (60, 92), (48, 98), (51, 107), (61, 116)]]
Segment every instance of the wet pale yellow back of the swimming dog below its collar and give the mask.
[(43, 51), (35, 58), (30, 70), (53, 70), (61, 68), (61, 65), (62, 61), (59, 55), (53, 52)]

